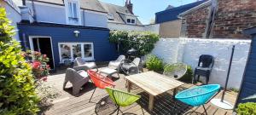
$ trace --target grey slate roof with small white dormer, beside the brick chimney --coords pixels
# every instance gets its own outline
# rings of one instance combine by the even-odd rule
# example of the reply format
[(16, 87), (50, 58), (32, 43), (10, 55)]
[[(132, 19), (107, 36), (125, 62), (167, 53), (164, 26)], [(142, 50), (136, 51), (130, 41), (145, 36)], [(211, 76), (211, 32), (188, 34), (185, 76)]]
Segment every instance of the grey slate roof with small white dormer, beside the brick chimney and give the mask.
[[(125, 6), (118, 6), (111, 3), (103, 3), (102, 7), (108, 12), (108, 22), (125, 24), (125, 19), (122, 18), (122, 15), (129, 15), (137, 17), (135, 14), (131, 14), (131, 12)], [(141, 26), (142, 23), (137, 19), (137, 26)]]

